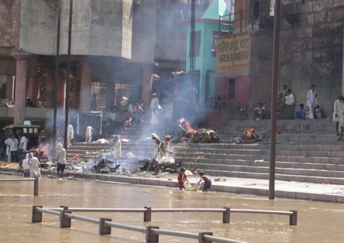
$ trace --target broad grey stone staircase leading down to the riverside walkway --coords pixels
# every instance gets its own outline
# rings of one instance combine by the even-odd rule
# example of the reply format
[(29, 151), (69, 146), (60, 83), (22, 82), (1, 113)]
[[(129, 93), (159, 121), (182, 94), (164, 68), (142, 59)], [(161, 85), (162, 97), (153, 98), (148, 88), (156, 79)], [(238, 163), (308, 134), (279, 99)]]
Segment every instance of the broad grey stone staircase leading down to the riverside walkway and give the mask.
[[(242, 178), (269, 178), (269, 122), (230, 121), (218, 132), (221, 141), (242, 135), (244, 127), (254, 127), (266, 138), (259, 144), (177, 144), (176, 161), (187, 169), (197, 167), (210, 176)], [(344, 185), (344, 142), (334, 135), (332, 121), (284, 120), (278, 121), (276, 146), (276, 179), (309, 183)], [(301, 132), (301, 133), (300, 133)], [(135, 154), (137, 160), (150, 158), (152, 141), (122, 143), (122, 154)], [(133, 135), (134, 134), (134, 135)], [(85, 151), (104, 149), (105, 144), (74, 144), (68, 157)]]

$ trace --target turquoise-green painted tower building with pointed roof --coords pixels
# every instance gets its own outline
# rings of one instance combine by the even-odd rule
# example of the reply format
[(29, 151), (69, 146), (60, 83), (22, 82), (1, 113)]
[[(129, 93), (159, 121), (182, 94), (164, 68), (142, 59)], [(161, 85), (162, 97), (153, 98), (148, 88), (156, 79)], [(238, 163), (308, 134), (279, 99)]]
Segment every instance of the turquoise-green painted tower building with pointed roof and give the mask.
[[(195, 23), (196, 66), (199, 80), (193, 84), (199, 90), (198, 104), (201, 109), (204, 102), (215, 92), (216, 49), (215, 39), (219, 32), (219, 15), (229, 15), (228, 7), (224, 0), (213, 0), (200, 19)], [(186, 72), (190, 72), (190, 32), (188, 24)]]

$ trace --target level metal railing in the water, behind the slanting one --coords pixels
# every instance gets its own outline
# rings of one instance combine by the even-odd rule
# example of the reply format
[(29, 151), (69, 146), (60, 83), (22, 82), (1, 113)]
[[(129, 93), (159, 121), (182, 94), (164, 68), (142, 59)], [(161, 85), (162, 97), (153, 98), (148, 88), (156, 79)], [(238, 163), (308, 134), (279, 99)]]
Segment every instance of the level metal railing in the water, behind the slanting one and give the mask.
[[(48, 210), (62, 211), (63, 208), (46, 208)], [(222, 222), (230, 223), (230, 213), (247, 214), (274, 214), (289, 216), (289, 225), (297, 225), (297, 211), (277, 211), (277, 210), (256, 210), (256, 209), (235, 209), (235, 208), (69, 208), (73, 212), (114, 212), (114, 213), (143, 213), (143, 221), (150, 222), (152, 213), (181, 213), (181, 212), (201, 212), (201, 213), (222, 213)]]

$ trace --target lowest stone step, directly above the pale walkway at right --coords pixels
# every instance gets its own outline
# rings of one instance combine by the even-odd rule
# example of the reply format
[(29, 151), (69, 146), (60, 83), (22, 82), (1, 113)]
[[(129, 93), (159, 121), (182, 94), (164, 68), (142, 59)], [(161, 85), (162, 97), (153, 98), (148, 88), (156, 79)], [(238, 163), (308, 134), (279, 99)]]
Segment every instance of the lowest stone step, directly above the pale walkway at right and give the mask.
[[(205, 174), (210, 176), (226, 176), (226, 177), (239, 177), (239, 178), (253, 178), (253, 179), (269, 179), (268, 173), (253, 173), (241, 171), (219, 171), (219, 170), (203, 170)], [(344, 178), (321, 177), (321, 176), (304, 176), (304, 175), (287, 175), (276, 174), (276, 180), (283, 181), (298, 181), (319, 184), (336, 184), (344, 185)]]

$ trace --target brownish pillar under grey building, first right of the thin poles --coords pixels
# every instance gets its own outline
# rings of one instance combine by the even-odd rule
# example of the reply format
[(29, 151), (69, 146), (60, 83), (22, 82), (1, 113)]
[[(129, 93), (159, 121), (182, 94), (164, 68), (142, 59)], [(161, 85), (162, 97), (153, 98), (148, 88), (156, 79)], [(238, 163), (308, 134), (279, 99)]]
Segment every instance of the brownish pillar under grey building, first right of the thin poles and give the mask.
[(91, 64), (88, 59), (82, 59), (81, 64), (81, 85), (80, 85), (80, 110), (91, 110)]

